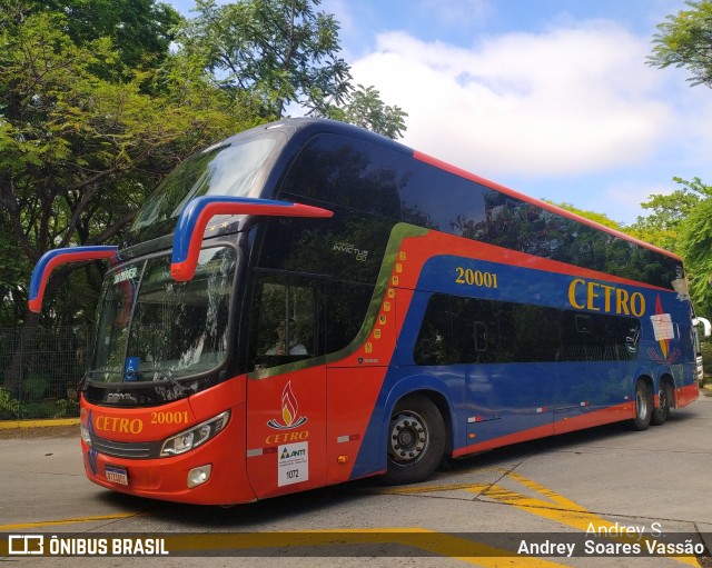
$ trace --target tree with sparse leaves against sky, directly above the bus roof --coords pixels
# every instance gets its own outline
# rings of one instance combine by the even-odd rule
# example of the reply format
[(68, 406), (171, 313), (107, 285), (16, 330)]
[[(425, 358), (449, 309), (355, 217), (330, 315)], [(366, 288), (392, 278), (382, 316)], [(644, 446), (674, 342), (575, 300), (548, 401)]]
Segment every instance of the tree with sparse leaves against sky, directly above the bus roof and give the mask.
[(197, 16), (177, 42), (233, 97), (257, 97), (266, 120), (301, 107), (309, 116), (403, 136), (407, 114), (400, 108), (386, 106), (374, 87), (352, 86), (350, 68), (338, 57), (338, 22), (317, 12), (319, 4), (240, 0), (218, 7), (215, 0), (197, 0)]

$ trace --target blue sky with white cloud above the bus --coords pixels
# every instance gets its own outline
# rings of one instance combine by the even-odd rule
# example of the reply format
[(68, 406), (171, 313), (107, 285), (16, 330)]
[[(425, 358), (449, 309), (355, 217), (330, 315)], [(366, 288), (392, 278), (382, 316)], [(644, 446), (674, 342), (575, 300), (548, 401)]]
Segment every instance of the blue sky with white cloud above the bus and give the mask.
[[(219, 3), (225, 3), (221, 0)], [(192, 0), (170, 0), (190, 17)], [(354, 84), (406, 146), (631, 225), (673, 177), (712, 185), (712, 90), (646, 64), (684, 0), (323, 0)]]

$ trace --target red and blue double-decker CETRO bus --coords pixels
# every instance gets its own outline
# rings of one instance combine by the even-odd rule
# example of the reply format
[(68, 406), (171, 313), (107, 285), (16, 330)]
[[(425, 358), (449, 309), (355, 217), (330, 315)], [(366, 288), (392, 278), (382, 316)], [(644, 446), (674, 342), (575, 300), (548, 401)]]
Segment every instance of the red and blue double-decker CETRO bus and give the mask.
[(81, 383), (88, 478), (238, 504), (699, 395), (675, 255), (346, 124), (285, 120), (181, 163), (107, 258)]

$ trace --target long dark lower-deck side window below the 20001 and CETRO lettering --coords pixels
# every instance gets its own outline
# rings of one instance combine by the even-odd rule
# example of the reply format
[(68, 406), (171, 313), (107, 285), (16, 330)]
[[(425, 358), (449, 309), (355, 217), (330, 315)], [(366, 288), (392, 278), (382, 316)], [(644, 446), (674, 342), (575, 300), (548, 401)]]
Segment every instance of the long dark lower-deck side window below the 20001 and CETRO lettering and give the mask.
[(417, 365), (611, 361), (635, 358), (634, 318), (433, 295), (414, 350)]

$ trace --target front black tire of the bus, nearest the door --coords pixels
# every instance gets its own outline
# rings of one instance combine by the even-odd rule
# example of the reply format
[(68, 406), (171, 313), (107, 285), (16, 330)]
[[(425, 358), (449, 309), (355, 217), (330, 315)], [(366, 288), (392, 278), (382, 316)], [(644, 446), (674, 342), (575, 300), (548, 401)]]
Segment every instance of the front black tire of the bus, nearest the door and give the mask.
[(417, 484), (429, 478), (445, 452), (445, 422), (435, 403), (422, 395), (399, 400), (388, 425), (386, 448), (386, 484)]

